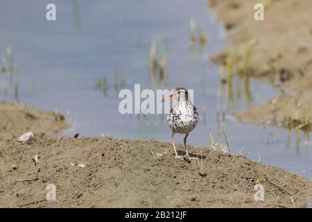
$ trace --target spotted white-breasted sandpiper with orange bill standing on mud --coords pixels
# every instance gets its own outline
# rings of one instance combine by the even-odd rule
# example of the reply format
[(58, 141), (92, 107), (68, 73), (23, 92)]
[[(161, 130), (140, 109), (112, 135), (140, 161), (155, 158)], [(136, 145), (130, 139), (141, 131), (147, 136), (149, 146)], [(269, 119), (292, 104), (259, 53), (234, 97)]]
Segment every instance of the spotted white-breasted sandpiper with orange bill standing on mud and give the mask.
[[(171, 142), (175, 151), (175, 159), (186, 160), (191, 162), (191, 159), (197, 159), (195, 157), (189, 157), (189, 151), (187, 150), (187, 137), (189, 133), (196, 127), (199, 121), (198, 109), (193, 105), (189, 98), (189, 92), (183, 87), (177, 87), (173, 89), (172, 93), (164, 98), (162, 102), (166, 100), (177, 100), (177, 104), (171, 109), (167, 117), (167, 123), (171, 129)], [(185, 155), (177, 155), (175, 148), (174, 135), (175, 133), (185, 134), (183, 139)]]

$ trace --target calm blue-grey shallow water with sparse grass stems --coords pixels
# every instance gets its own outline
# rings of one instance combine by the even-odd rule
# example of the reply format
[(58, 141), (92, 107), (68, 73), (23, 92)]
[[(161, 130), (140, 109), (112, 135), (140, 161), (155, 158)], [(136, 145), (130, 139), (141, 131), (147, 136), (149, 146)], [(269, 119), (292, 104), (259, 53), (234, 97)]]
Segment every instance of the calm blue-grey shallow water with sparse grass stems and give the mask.
[[(246, 94), (243, 83), (236, 78), (230, 99), (227, 85), (220, 83), (219, 68), (209, 60), (209, 56), (225, 48), (223, 26), (216, 22), (214, 11), (206, 3), (53, 2), (57, 7), (55, 22), (45, 19), (48, 1), (1, 2), (0, 56), (6, 55), (6, 45), (12, 47), (19, 69), (15, 78), (19, 80), (19, 101), (67, 113), (73, 128), (65, 135), (108, 134), (169, 142), (166, 116), (122, 115), (118, 111), (118, 92), (121, 88), (133, 90), (135, 83), (141, 84), (141, 89), (186, 87), (194, 89), (194, 104), (200, 110), (200, 124), (189, 135), (189, 144), (209, 146), (209, 129), (215, 141), (219, 137), (225, 143), (222, 125), (232, 153), (241, 151), (254, 160), (312, 178), (309, 135), (246, 126), (232, 118), (233, 112), (272, 99), (278, 92), (270, 84), (250, 80), (251, 95)], [(197, 33), (201, 29), (208, 37), (202, 48), (196, 43), (192, 49), (189, 44), (191, 18), (196, 19)], [(162, 81), (153, 80), (149, 69), (153, 42), (157, 43), (159, 56), (166, 53), (168, 58)], [(116, 72), (119, 87), (114, 84)], [(7, 76), (0, 76), (2, 87)], [(103, 78), (107, 78), (107, 89), (96, 89), (94, 80)], [(12, 91), (1, 89), (0, 99), (15, 101)], [(252, 98), (250, 103), (248, 96)], [(182, 135), (175, 141), (182, 143)]]

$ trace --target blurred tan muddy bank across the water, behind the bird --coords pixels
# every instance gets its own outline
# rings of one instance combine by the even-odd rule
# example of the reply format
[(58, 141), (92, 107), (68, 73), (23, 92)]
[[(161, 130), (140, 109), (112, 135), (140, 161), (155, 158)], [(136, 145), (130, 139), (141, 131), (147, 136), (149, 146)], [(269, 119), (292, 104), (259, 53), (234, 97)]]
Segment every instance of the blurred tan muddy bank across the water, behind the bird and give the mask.
[(236, 114), (245, 123), (278, 125), (311, 130), (312, 123), (312, 26), (311, 2), (262, 1), (264, 21), (254, 19), (259, 1), (210, 0), (218, 19), (233, 42), (213, 56), (229, 76), (266, 78), (279, 96)]

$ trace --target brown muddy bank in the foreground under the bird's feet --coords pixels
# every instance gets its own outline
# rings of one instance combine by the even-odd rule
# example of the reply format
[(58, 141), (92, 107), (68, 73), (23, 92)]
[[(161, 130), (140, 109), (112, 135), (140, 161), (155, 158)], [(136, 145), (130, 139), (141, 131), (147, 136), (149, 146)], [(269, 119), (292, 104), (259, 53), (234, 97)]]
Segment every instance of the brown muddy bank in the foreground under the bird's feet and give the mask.
[[(20, 112), (20, 105), (1, 104)], [(37, 118), (21, 114), (0, 134), (0, 207), (304, 207), (311, 201), (310, 180), (241, 155), (192, 147), (199, 161), (189, 164), (175, 160), (168, 143), (43, 135), (63, 124), (51, 112), (27, 109)], [(1, 128), (15, 114), (0, 109)], [(18, 135), (19, 123), (40, 133), (25, 143), (7, 137)], [(183, 146), (177, 148), (183, 155)], [(50, 183), (55, 201), (46, 200)], [(264, 201), (254, 200), (256, 184), (264, 186)]]

